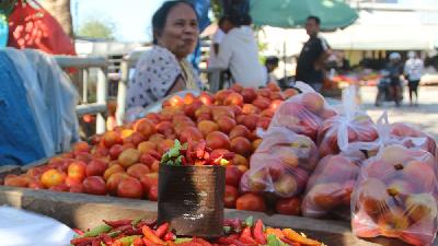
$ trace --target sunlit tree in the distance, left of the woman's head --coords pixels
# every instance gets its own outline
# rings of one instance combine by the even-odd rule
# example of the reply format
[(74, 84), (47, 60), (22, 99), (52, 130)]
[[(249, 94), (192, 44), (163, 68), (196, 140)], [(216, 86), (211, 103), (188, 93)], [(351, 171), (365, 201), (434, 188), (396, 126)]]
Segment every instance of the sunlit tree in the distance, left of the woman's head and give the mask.
[(107, 21), (89, 20), (78, 31), (78, 36), (114, 39), (114, 24)]

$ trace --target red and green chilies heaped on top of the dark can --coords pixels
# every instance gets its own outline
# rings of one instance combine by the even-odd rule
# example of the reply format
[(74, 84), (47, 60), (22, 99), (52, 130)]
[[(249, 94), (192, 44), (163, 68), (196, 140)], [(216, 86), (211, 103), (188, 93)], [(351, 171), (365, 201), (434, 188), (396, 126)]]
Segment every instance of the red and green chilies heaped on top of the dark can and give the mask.
[(227, 150), (211, 150), (207, 142), (201, 140), (181, 144), (176, 139), (173, 148), (163, 154), (161, 164), (174, 166), (187, 165), (228, 165), (234, 153)]

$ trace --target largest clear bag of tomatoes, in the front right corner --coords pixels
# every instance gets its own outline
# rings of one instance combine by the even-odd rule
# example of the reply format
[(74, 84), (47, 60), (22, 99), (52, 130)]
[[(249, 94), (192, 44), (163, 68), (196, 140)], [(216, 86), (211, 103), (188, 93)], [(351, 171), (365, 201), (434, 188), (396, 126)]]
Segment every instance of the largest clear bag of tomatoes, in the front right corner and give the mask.
[(379, 150), (359, 172), (351, 198), (353, 232), (430, 245), (438, 224), (436, 165), (423, 150), (396, 144)]

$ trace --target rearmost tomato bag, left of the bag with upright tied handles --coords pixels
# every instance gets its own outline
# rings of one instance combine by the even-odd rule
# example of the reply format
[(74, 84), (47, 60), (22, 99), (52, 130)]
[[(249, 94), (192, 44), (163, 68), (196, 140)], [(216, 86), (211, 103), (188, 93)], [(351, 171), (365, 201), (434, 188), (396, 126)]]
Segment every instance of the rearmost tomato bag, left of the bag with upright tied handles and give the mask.
[(292, 96), (280, 104), (269, 128), (286, 127), (298, 134), (306, 134), (316, 141), (318, 129), (322, 126), (323, 120), (335, 115), (337, 113), (328, 107), (321, 94), (309, 91)]

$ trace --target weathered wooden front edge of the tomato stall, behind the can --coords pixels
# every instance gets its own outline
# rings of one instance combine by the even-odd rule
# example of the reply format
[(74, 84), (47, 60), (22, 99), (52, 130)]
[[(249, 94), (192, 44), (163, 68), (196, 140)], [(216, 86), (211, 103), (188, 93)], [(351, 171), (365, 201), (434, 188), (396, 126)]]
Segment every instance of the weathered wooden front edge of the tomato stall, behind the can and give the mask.
[[(140, 216), (157, 218), (157, 202), (85, 194), (54, 192), (0, 186), (0, 204), (8, 204), (51, 216), (71, 227), (87, 230), (102, 223), (103, 219), (118, 220)], [(348, 222), (324, 221), (301, 216), (226, 210), (226, 218), (261, 218), (267, 225), (292, 227), (320, 239), (326, 245), (405, 245), (389, 238), (374, 239), (378, 244), (359, 239), (351, 234)]]

